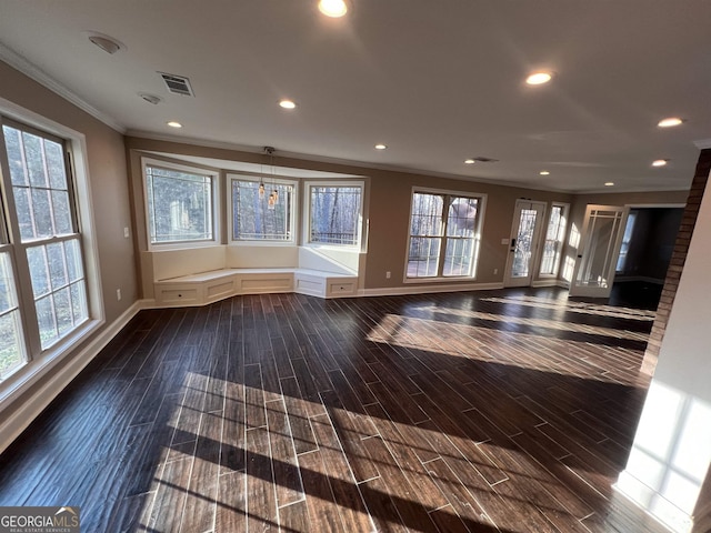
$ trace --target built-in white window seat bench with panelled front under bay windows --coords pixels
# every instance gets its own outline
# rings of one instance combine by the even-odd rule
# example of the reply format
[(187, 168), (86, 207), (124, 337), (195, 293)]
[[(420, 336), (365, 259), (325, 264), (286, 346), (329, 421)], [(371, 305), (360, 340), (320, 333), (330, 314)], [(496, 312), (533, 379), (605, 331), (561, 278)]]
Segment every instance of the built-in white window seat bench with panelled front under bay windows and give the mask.
[[(166, 306), (204, 305), (238, 294), (278, 292), (297, 292), (320, 298), (353, 296), (358, 293), (358, 274), (324, 259), (322, 254), (313, 255), (307, 250), (297, 254), (297, 261), (284, 261), (282, 251), (277, 252), (274, 260), (287, 263), (284, 266), (260, 268), (253, 265), (256, 261), (250, 261), (249, 266), (232, 266), (230, 263), (238, 261), (231, 261), (230, 255), (237, 252), (246, 254), (247, 250), (216, 248), (222, 248), (224, 253), (213, 248), (148, 252), (151, 253), (156, 303)], [(260, 247), (257, 253), (263, 257), (267, 252)], [(254, 255), (248, 257), (254, 259)], [(260, 262), (266, 261), (261, 258)], [(304, 263), (304, 266), (298, 265), (299, 262)]]

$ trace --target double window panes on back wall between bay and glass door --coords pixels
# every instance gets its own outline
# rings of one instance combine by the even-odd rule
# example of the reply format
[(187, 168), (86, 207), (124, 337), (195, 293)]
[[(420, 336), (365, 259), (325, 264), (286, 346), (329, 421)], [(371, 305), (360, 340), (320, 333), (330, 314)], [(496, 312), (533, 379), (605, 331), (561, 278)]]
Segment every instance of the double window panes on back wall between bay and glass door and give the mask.
[(412, 193), (407, 278), (473, 278), (483, 198)]

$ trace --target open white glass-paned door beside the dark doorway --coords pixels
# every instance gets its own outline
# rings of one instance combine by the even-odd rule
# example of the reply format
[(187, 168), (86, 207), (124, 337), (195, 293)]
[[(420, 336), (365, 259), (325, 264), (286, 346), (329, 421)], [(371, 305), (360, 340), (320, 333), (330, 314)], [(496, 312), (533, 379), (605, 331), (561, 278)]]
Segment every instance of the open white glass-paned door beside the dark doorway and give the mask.
[(588, 205), (571, 296), (610, 295), (628, 212), (628, 208), (618, 205)]

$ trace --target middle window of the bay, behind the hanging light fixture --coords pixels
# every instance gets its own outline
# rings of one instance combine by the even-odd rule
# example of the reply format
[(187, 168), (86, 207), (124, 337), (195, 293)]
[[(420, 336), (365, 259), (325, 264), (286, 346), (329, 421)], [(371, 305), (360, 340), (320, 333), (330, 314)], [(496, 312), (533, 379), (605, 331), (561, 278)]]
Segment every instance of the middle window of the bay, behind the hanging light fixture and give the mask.
[(293, 183), (236, 175), (230, 183), (233, 241), (294, 242)]

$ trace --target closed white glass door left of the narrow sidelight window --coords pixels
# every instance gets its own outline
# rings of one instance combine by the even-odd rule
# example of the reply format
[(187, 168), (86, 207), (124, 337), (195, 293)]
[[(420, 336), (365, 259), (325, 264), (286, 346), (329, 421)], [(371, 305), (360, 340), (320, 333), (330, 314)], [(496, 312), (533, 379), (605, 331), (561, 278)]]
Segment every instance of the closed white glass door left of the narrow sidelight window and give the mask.
[(515, 201), (507, 272), (503, 278), (504, 286), (528, 286), (531, 284), (544, 214), (544, 202)]

